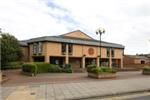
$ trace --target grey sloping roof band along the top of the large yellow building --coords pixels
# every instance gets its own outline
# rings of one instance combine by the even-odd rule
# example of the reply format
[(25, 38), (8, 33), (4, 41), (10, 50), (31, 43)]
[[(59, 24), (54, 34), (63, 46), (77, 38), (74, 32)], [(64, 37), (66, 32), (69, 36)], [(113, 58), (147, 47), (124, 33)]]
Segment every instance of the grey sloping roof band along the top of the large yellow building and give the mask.
[[(62, 42), (62, 43), (73, 43), (73, 44), (83, 44), (83, 45), (93, 45), (99, 46), (99, 41), (95, 39), (80, 39), (68, 36), (44, 36), (38, 38), (32, 38), (26, 40), (26, 43), (40, 42), (40, 41), (51, 41), (51, 42)], [(24, 41), (25, 42), (25, 41)], [(101, 42), (101, 46), (103, 47), (114, 47), (114, 48), (124, 48), (121, 44), (109, 43), (109, 42)]]

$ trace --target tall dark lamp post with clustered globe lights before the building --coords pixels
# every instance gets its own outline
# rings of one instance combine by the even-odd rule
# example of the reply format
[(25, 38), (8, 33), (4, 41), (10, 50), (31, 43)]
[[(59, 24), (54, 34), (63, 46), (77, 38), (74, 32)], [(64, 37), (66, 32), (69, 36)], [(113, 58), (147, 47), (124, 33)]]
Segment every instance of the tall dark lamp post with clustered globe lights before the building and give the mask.
[(104, 28), (98, 28), (96, 30), (96, 34), (98, 35), (99, 34), (99, 47), (100, 47), (100, 56), (99, 56), (99, 64), (101, 66), (101, 35), (105, 33), (105, 29)]

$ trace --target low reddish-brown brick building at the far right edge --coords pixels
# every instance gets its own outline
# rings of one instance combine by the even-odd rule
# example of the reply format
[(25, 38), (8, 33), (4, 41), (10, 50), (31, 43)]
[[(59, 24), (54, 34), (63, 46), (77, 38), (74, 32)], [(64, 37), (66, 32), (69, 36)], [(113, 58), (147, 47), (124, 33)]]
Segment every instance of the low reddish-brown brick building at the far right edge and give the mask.
[(145, 66), (150, 64), (150, 58), (148, 55), (124, 55), (124, 66)]

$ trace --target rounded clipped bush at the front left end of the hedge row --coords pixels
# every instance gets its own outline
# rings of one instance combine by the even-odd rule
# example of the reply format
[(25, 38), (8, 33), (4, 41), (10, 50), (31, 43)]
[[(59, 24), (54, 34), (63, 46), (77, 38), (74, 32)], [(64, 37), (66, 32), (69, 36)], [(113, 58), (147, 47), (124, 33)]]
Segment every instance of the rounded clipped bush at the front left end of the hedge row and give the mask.
[(36, 75), (37, 66), (34, 63), (25, 63), (22, 65), (22, 71)]

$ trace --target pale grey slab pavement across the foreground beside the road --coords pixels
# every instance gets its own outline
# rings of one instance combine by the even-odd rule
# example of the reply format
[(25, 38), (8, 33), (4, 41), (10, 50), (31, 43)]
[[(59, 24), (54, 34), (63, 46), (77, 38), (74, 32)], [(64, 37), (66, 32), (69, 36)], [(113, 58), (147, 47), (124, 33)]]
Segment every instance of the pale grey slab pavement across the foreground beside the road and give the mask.
[(150, 90), (150, 76), (103, 81), (2, 86), (2, 100), (79, 100)]

